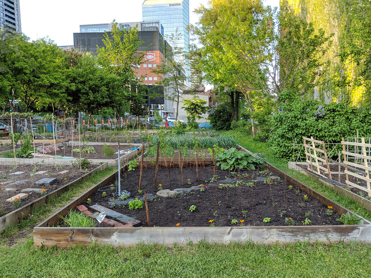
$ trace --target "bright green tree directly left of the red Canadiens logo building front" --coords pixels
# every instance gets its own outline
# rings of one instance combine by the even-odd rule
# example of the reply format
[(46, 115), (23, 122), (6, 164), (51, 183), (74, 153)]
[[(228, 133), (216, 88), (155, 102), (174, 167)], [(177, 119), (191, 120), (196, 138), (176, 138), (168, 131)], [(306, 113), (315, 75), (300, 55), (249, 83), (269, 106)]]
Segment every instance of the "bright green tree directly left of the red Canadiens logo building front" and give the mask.
[[(134, 94), (138, 93), (135, 88), (143, 80), (143, 77), (136, 76), (135, 69), (137, 65), (144, 63), (144, 55), (148, 47), (144, 51), (138, 51), (145, 43), (139, 39), (138, 34), (137, 28), (120, 30), (117, 23), (113, 21), (111, 33), (104, 32), (104, 47), (97, 47), (98, 64), (109, 73), (118, 76), (124, 88), (122, 92), (115, 90), (117, 93), (111, 95), (112, 107), (115, 107), (119, 119), (123, 107), (131, 102)], [(121, 128), (120, 120), (119, 128)]]

